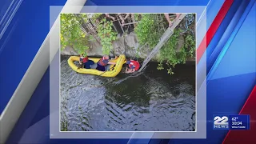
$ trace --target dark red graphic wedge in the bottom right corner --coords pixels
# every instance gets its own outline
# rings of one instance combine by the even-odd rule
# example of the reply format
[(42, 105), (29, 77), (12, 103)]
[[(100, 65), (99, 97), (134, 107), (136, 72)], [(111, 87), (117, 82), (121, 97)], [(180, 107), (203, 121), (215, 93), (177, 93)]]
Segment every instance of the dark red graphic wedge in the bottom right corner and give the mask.
[(256, 143), (256, 86), (250, 93), (239, 114), (250, 115), (250, 130), (230, 130), (222, 144)]

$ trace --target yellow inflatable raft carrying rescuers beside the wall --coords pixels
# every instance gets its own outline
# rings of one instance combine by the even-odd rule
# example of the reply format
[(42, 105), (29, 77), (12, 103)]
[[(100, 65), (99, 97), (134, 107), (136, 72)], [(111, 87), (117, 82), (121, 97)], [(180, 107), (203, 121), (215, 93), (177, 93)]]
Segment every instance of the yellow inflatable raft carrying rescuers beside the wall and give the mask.
[[(94, 63), (97, 63), (100, 60), (100, 58), (89, 58), (89, 59), (94, 61)], [(81, 74), (94, 74), (94, 75), (100, 75), (102, 77), (115, 77), (122, 70), (122, 65), (126, 63), (126, 56), (120, 55), (116, 59), (111, 59), (110, 62), (115, 62), (116, 65), (110, 65), (110, 68), (108, 71), (100, 71), (95, 69), (84, 69), (84, 68), (78, 69), (78, 66), (74, 64), (74, 62), (78, 62), (78, 61), (79, 61), (78, 56), (71, 56), (67, 62), (69, 63), (70, 67), (74, 71)]]

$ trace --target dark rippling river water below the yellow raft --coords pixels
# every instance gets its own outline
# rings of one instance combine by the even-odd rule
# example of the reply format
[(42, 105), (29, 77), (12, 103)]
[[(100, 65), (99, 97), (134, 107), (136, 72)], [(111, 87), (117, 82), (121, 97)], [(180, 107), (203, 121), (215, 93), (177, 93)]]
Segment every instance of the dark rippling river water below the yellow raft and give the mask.
[(61, 130), (195, 130), (194, 65), (177, 65), (170, 75), (151, 62), (140, 74), (103, 78), (61, 61)]

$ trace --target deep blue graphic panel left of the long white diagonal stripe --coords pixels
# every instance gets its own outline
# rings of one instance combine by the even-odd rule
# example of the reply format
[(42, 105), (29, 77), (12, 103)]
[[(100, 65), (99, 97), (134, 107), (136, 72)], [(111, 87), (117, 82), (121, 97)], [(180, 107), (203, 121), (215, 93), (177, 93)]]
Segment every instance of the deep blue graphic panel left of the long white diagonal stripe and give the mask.
[[(25, 0), (7, 26), (0, 39), (0, 114), (50, 30), (50, 5), (65, 3), (66, 0)], [(2, 7), (1, 1), (0, 10), (4, 10)]]

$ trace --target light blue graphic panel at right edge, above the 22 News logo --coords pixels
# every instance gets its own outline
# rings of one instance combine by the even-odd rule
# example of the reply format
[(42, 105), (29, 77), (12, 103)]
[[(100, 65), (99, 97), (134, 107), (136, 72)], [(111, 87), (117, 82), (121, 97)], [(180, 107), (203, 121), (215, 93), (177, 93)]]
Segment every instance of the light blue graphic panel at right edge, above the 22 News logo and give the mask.
[(234, 41), (212, 79), (248, 74), (256, 71), (256, 3), (247, 15)]

